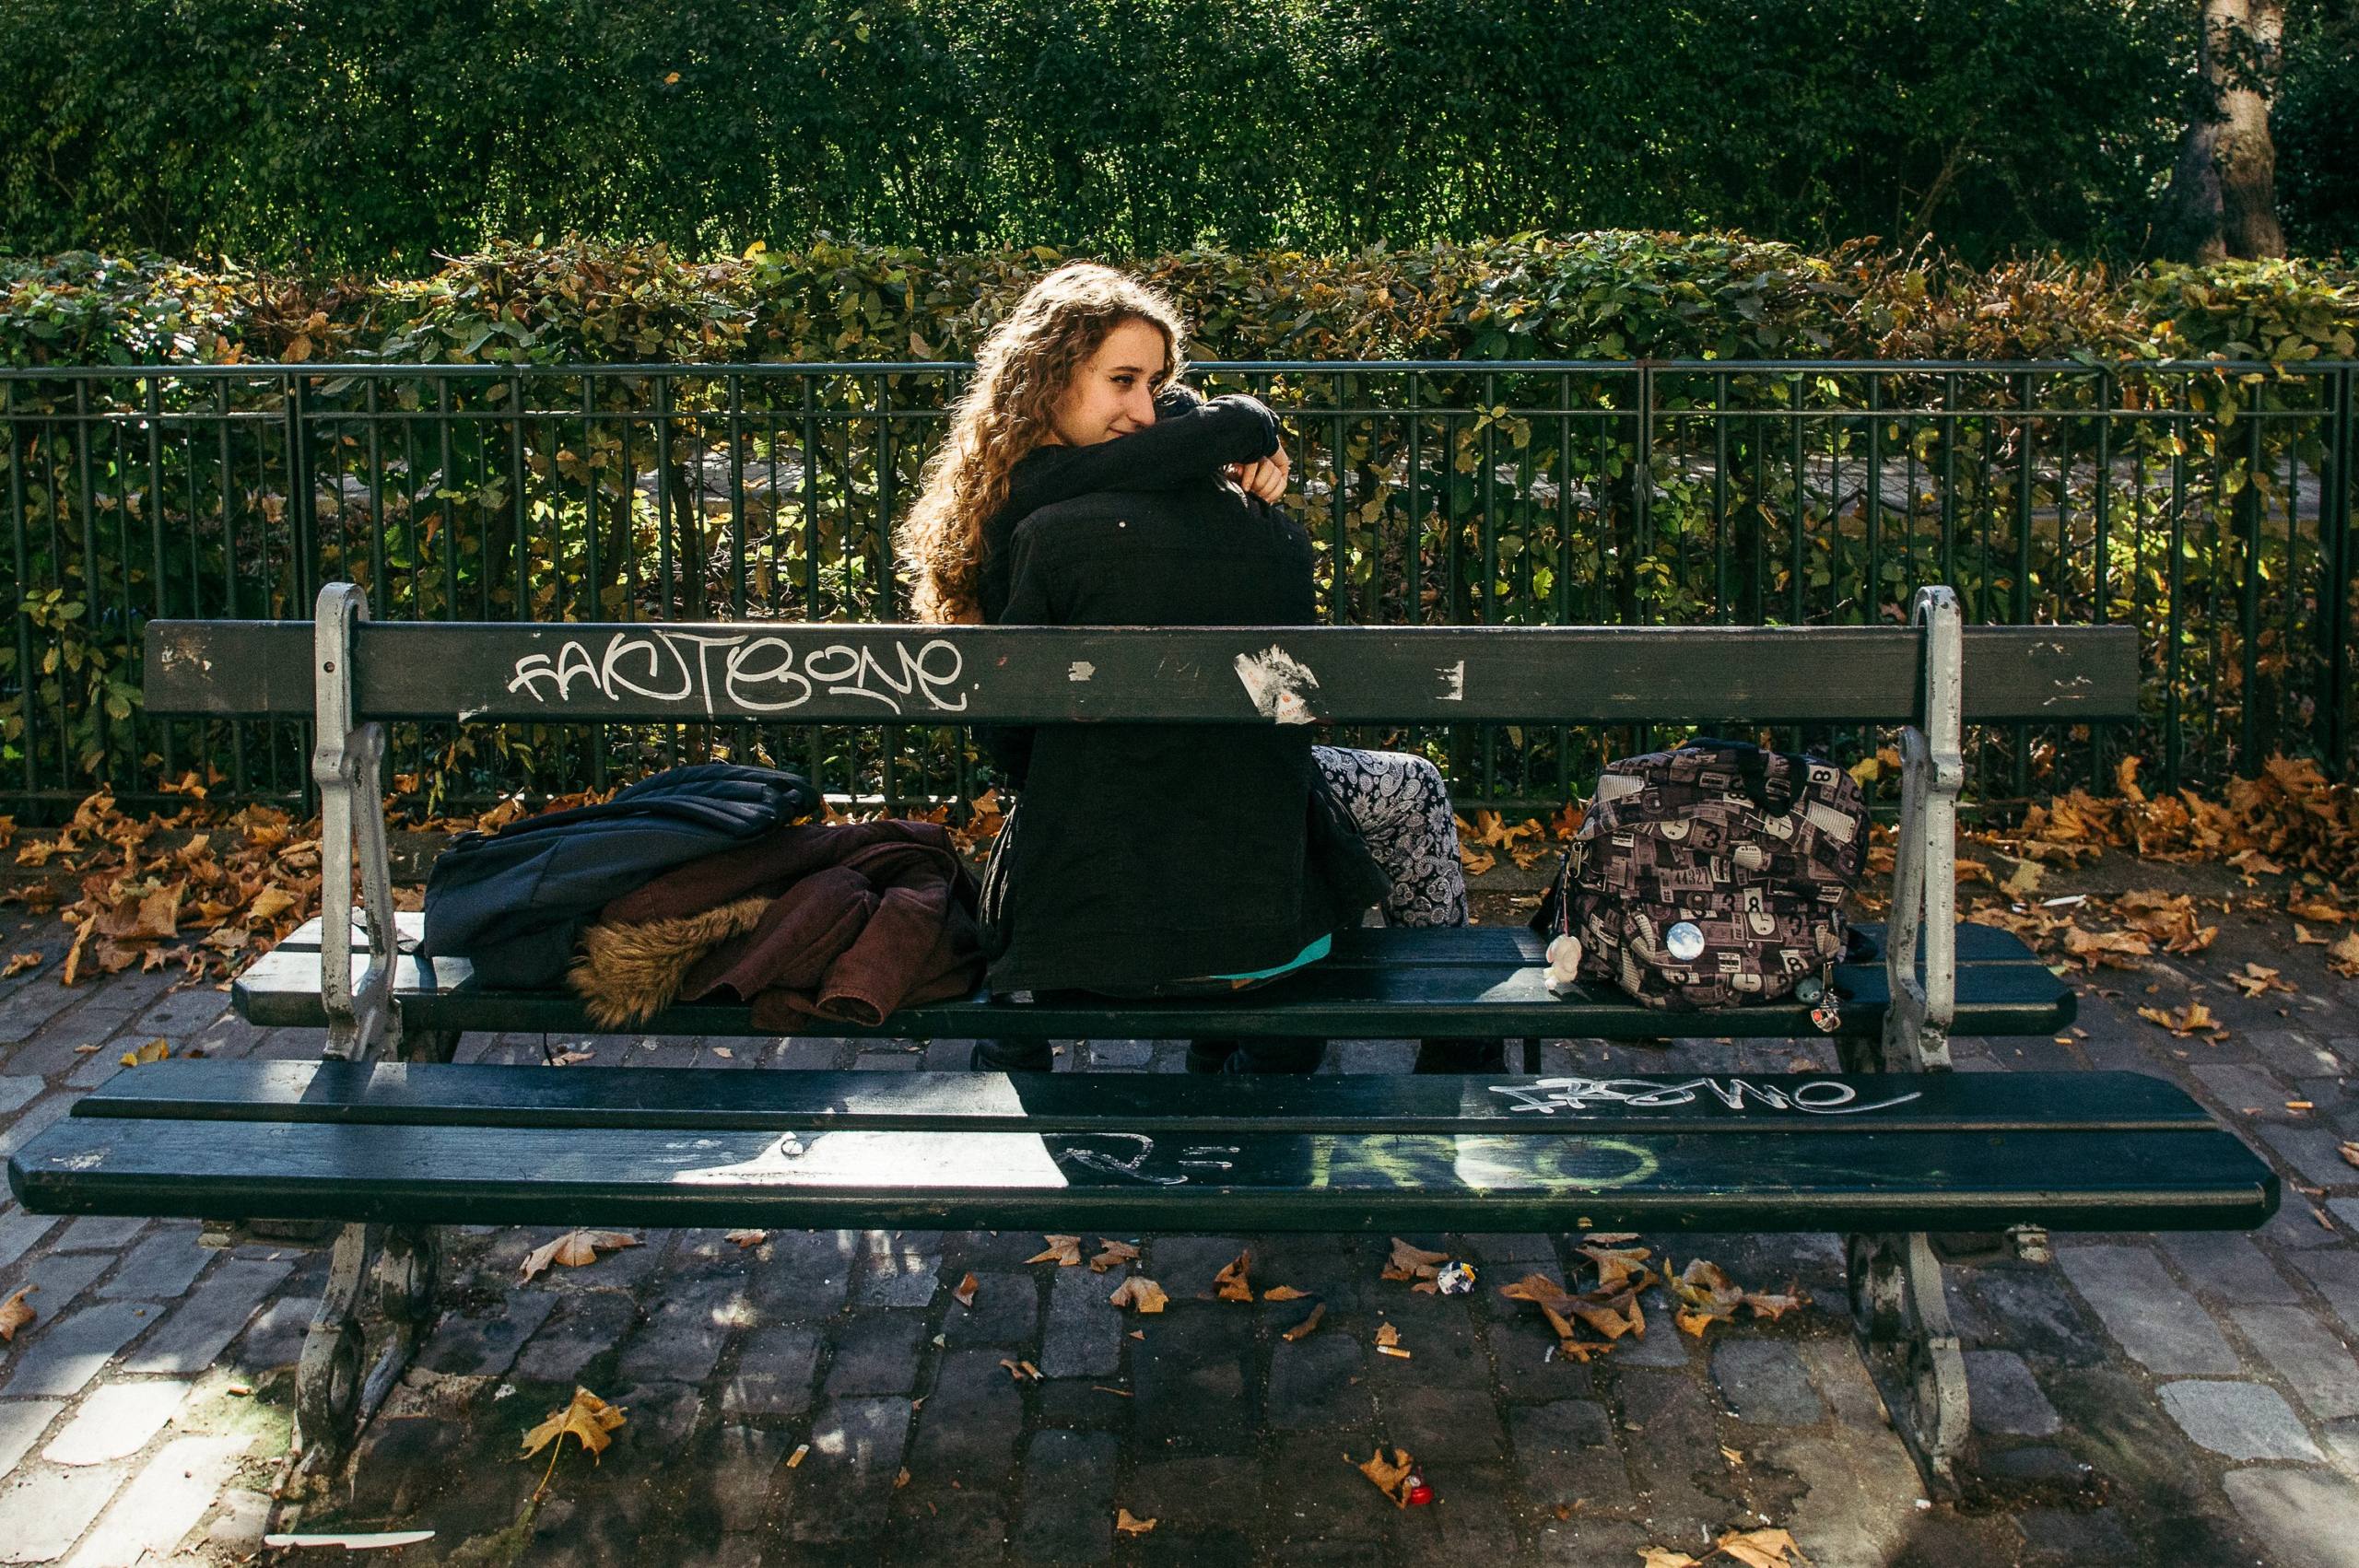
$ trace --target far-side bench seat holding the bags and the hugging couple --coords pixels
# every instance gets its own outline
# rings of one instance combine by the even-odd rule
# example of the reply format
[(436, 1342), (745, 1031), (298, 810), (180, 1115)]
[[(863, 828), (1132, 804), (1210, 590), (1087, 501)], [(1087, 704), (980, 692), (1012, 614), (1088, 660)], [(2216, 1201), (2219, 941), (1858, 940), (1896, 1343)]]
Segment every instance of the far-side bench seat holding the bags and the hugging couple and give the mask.
[[(474, 990), (465, 960), (432, 960), (439, 986), (427, 988), (420, 960), (394, 967), (394, 997), (410, 1028), (599, 1033), (578, 997), (564, 990)], [(1845, 1035), (1882, 1028), (1885, 974), (1861, 964), (1838, 969)], [(271, 953), (238, 976), (238, 1014), (267, 1026), (323, 1026), (316, 953)], [(2074, 993), (2043, 964), (1960, 964), (1960, 1035), (2033, 1035), (2071, 1023)], [(1397, 1037), (1618, 1037), (1642, 1040), (1673, 1030), (1746, 1037), (1816, 1035), (1800, 1002), (1717, 1012), (1651, 1012), (1621, 993), (1590, 986), (1571, 997), (1548, 990), (1538, 967), (1392, 967), (1321, 969), (1288, 976), (1269, 990), (1236, 997), (1146, 1002), (1040, 1000), (995, 1002), (977, 993), (960, 1002), (903, 1007), (880, 1028), (811, 1021), (795, 1030), (830, 1037), (962, 1040), (962, 1037), (1269, 1037), (1328, 1040)], [(741, 1004), (684, 1002), (637, 1030), (653, 1035), (760, 1035)], [(776, 1030), (767, 1030), (776, 1033)]]

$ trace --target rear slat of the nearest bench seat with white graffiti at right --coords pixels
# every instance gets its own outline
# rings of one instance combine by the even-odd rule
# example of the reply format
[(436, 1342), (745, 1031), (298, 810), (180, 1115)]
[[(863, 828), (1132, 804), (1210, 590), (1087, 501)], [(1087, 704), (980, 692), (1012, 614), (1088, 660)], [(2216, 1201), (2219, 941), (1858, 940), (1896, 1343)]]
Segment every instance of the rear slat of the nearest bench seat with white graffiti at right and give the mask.
[[(1498, 1087), (1493, 1087), (1498, 1085)], [(1632, 1103), (1635, 1101), (1635, 1103)], [(158, 1061), (75, 1115), (465, 1127), (1139, 1132), (2173, 1132), (2213, 1118), (2142, 1073), (1187, 1078)]]

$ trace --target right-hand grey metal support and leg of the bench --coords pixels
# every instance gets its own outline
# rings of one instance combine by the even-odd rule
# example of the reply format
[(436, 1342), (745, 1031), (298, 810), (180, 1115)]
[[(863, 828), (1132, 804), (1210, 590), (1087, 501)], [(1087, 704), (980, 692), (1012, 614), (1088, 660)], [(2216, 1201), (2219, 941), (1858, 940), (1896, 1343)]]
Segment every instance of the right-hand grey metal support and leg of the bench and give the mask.
[[(1925, 634), (1923, 729), (1901, 731), (1901, 825), (1892, 865), (1892, 922), (1885, 976), (1892, 1007), (1882, 1040), (1845, 1042), (1854, 1073), (1946, 1073), (1949, 1026), (1958, 1012), (1958, 790), (1963, 634), (1958, 597), (1918, 589), (1913, 625)], [(1918, 976), (1918, 943), (1925, 971)], [(1941, 1297), (1941, 1264), (1923, 1231), (1847, 1238), (1852, 1330), (1882, 1389), (1892, 1424), (1916, 1455), (1925, 1485), (1956, 1493), (1956, 1464), (1970, 1431), (1965, 1353)]]

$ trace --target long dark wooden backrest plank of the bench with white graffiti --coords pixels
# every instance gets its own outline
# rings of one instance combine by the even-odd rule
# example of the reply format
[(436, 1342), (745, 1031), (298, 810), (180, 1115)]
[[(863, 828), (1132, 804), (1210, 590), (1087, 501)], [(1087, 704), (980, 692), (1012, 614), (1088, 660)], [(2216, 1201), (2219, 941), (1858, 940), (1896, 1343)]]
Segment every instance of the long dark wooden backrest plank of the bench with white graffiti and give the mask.
[[(1923, 724), (1918, 627), (359, 622), (351, 722)], [(311, 714), (309, 620), (153, 620), (158, 714)], [(1967, 627), (1963, 719), (2137, 710), (2133, 627)]]

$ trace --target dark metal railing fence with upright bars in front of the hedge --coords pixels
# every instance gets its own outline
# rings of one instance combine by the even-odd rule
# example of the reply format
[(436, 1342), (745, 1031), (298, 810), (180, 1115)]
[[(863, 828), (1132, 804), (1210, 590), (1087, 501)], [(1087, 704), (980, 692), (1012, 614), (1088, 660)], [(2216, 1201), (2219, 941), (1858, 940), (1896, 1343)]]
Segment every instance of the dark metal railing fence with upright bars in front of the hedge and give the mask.
[[(380, 630), (434, 622), (901, 620), (892, 523), (958, 363), (106, 365), (0, 370), (0, 795), (54, 813), (189, 771), (300, 804), (302, 724), (167, 717), (151, 622), (295, 620), (347, 578)], [(1949, 582), (1979, 625), (2135, 632), (2123, 719), (1977, 731), (1970, 788), (2022, 799), (2140, 757), (2163, 788), (2307, 752), (2347, 776), (2359, 552), (2352, 363), (1205, 363), (1286, 424), (1321, 615), (1359, 625), (1899, 627)], [(559, 639), (561, 644), (564, 639)], [(1569, 651), (1566, 658), (1581, 658)], [(552, 665), (554, 670), (554, 665)], [(1680, 703), (1597, 724), (1352, 714), (1460, 802), (1585, 790)], [(1489, 712), (1489, 710), (1486, 710)], [(1505, 714), (1505, 710), (1500, 710)], [(455, 710), (453, 710), (455, 717)], [(1809, 714), (1779, 740), (1873, 750)], [(1392, 722), (1382, 722), (1392, 719)], [(896, 809), (979, 795), (941, 714), (623, 714), (394, 736), (418, 804), (606, 788), (729, 755)]]

